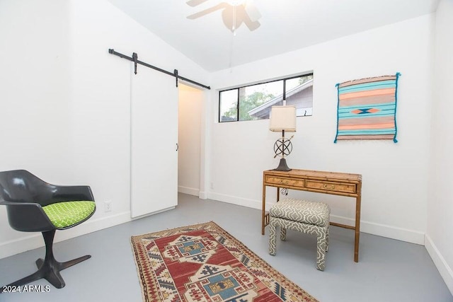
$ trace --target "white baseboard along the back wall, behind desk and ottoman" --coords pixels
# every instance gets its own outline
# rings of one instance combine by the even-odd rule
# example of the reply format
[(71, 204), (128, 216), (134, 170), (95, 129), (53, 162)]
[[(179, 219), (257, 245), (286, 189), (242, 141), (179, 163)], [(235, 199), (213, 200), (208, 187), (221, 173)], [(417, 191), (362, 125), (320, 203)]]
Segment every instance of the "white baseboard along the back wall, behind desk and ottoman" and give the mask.
[[(241, 197), (234, 197), (231, 195), (226, 194), (218, 194), (218, 193), (209, 193), (210, 199), (218, 200), (219, 202), (228, 202), (229, 204), (236, 204), (243, 207), (249, 207), (253, 209), (261, 209), (261, 200), (256, 199), (245, 199)], [(266, 202), (266, 209), (272, 207), (273, 203)], [(337, 216), (331, 214), (331, 221), (336, 223), (347, 224), (350, 226), (354, 226), (354, 219)], [(406, 228), (398, 228), (396, 226), (387, 226), (380, 223), (374, 223), (369, 221), (361, 221), (360, 222), (360, 231), (363, 233), (369, 233), (372, 235), (382, 236), (386, 238), (406, 241), (409, 243), (416, 243), (420, 245), (424, 245), (425, 243), (425, 233), (409, 230)]]

